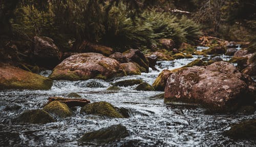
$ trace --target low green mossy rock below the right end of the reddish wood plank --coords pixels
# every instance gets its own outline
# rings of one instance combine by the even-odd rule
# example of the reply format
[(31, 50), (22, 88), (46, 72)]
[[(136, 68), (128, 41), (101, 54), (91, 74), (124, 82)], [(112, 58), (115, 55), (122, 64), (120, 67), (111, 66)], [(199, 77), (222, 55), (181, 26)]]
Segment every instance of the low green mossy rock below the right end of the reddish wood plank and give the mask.
[(85, 112), (87, 114), (103, 115), (110, 117), (123, 118), (123, 115), (120, 114), (115, 107), (108, 102), (94, 102), (87, 104), (82, 107), (81, 113)]

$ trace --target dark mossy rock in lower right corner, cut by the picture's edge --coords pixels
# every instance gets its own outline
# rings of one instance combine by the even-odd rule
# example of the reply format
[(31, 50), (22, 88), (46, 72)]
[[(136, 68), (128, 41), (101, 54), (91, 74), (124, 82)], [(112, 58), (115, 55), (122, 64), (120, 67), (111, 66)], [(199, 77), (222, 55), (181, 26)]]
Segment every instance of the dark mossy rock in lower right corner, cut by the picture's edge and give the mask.
[(256, 140), (256, 120), (232, 125), (231, 129), (224, 132), (224, 134), (235, 139)]

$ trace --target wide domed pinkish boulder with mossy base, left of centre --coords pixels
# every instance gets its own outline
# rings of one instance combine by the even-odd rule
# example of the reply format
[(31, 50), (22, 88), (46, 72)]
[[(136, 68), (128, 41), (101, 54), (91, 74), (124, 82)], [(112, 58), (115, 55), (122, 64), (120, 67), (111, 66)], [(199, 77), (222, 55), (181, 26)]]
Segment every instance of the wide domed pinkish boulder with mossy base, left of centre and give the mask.
[(56, 66), (49, 76), (55, 80), (109, 79), (126, 75), (118, 61), (99, 53), (72, 55)]

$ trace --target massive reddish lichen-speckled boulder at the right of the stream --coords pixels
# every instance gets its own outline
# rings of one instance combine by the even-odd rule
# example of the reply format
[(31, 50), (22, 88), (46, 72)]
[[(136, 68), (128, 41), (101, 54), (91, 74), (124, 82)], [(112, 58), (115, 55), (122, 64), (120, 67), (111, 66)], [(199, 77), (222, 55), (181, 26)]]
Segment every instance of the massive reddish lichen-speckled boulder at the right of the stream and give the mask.
[(232, 64), (216, 62), (173, 73), (167, 79), (164, 92), (166, 103), (200, 103), (212, 112), (225, 112), (241, 105), (253, 105), (255, 83)]

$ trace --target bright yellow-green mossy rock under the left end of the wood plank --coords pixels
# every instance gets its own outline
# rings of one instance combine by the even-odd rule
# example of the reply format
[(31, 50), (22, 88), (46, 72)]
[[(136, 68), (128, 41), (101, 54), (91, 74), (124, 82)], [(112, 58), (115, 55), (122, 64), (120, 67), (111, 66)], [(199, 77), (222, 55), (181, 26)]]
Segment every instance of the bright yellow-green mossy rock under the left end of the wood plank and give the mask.
[(72, 110), (67, 106), (67, 104), (58, 101), (51, 102), (46, 105), (43, 110), (55, 114), (62, 119), (72, 115)]

